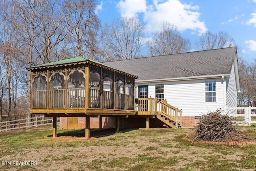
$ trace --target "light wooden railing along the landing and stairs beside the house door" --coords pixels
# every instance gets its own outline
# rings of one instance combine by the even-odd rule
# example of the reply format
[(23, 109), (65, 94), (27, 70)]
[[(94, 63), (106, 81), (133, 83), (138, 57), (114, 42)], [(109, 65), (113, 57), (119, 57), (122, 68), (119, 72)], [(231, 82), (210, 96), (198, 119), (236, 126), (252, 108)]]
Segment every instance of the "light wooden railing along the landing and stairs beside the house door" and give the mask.
[(165, 117), (182, 123), (182, 110), (154, 98), (139, 98), (136, 104), (138, 115), (164, 115)]

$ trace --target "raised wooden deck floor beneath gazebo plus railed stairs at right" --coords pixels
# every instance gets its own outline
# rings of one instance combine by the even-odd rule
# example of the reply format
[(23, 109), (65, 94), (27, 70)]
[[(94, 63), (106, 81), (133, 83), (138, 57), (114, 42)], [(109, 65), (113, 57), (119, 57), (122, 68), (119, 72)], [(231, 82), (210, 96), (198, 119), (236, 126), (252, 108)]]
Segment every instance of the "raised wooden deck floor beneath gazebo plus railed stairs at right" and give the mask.
[(130, 108), (49, 108), (30, 109), (30, 113), (44, 114), (46, 117), (157, 117), (169, 127), (182, 126), (182, 110), (168, 104), (166, 100), (160, 101), (150, 97), (139, 98), (136, 102), (134, 110)]

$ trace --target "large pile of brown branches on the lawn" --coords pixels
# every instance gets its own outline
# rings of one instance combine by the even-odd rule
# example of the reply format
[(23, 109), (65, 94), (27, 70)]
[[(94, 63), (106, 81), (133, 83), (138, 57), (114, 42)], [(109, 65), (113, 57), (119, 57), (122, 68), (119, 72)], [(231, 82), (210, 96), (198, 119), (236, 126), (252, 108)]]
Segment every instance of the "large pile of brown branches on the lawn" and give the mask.
[(238, 139), (244, 139), (245, 135), (236, 130), (231, 117), (222, 115), (220, 110), (217, 110), (202, 115), (192, 137), (194, 140), (205, 141), (225, 141), (225, 139), (238, 141)]

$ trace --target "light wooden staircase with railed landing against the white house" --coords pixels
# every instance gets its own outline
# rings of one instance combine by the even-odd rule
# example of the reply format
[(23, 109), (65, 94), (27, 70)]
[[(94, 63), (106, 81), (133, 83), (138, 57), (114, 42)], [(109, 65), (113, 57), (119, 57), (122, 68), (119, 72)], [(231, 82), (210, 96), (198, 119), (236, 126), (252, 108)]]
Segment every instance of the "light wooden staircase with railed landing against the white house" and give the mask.
[(138, 115), (156, 115), (168, 127), (182, 127), (182, 110), (168, 104), (166, 100), (139, 98)]

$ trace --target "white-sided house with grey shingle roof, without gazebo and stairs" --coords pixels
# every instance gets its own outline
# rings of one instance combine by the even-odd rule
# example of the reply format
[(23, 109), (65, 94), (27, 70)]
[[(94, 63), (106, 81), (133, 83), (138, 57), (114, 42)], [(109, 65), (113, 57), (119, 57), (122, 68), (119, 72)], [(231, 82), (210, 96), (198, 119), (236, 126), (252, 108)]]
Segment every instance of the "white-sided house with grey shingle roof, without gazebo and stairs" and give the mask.
[(183, 127), (196, 126), (202, 113), (219, 108), (226, 113), (228, 107), (237, 107), (240, 83), (236, 47), (104, 64), (138, 76), (136, 98), (166, 99), (182, 109)]

